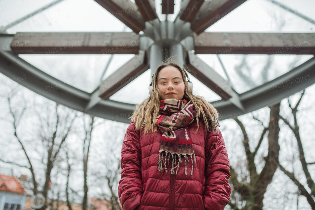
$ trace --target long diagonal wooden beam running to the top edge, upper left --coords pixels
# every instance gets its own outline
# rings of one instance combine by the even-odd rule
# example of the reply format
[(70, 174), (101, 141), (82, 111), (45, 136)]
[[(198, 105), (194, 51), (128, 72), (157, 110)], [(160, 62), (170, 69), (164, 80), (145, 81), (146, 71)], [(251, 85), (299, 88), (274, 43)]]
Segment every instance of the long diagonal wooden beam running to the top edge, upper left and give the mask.
[[(122, 21), (126, 26), (131, 28), (135, 33), (139, 33), (145, 29), (145, 21), (143, 20), (138, 6), (130, 0), (95, 0), (107, 11), (112, 13), (118, 20)], [(106, 20), (104, 20), (106, 21)]]

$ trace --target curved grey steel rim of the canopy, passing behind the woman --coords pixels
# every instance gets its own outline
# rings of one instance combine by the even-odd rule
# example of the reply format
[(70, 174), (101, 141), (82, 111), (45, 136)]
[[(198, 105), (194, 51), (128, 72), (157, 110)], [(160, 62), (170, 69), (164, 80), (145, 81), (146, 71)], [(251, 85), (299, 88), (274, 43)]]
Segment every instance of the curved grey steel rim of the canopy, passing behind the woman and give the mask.
[[(0, 54), (0, 72), (37, 94), (78, 111), (84, 112), (84, 108), (91, 100), (91, 94), (63, 83), (10, 52), (3, 51)], [(313, 57), (288, 73), (240, 94), (239, 98), (245, 111), (236, 107), (231, 101), (219, 100), (212, 103), (220, 112), (221, 120), (246, 114), (271, 106), (314, 84), (314, 72), (315, 58)], [(52, 85), (55, 87), (53, 88)], [(128, 117), (134, 106), (135, 104), (102, 100), (84, 113), (107, 120), (130, 123)]]

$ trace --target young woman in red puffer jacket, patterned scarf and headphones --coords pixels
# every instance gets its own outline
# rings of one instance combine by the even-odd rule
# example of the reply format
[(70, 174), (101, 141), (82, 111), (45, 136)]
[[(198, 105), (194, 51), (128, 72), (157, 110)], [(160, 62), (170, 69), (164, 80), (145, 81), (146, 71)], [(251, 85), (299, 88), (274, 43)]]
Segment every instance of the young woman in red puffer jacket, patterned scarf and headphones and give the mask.
[(150, 97), (136, 106), (123, 139), (123, 210), (220, 210), (231, 177), (217, 110), (192, 95), (186, 72), (168, 59), (154, 71)]

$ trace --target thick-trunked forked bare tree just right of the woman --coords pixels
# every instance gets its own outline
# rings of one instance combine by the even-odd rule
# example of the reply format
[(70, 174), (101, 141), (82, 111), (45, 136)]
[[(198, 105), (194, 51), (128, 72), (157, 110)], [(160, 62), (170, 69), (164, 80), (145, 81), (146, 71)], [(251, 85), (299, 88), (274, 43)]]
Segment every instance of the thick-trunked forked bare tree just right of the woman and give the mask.
[[(246, 168), (249, 172), (249, 178), (250, 178), (250, 182), (248, 183), (245, 182), (244, 184), (242, 184), (242, 186), (240, 186), (238, 184), (240, 183), (240, 181), (238, 180), (238, 174), (235, 172), (234, 168), (230, 165), (231, 178), (229, 181), (230, 183), (232, 182), (232, 185), (234, 188), (232, 194), (235, 194), (237, 192), (240, 195), (241, 200), (246, 201), (243, 207), (239, 207), (237, 202), (235, 201), (233, 202), (231, 199), (229, 205), (235, 210), (239, 210), (239, 209), (262, 210), (263, 199), (264, 199), (264, 194), (266, 192), (267, 185), (271, 182), (273, 174), (275, 173), (277, 169), (277, 165), (273, 162), (273, 159), (278, 160), (279, 150), (280, 150), (279, 143), (278, 143), (278, 139), (279, 139), (278, 134), (280, 131), (280, 128), (278, 125), (279, 111), (280, 111), (280, 103), (270, 107), (269, 125), (267, 127), (264, 126), (263, 131), (261, 131), (261, 137), (253, 152), (249, 149), (250, 148), (249, 137), (245, 130), (245, 126), (238, 119), (238, 117), (234, 118), (234, 120), (238, 123), (243, 133), (243, 147), (245, 150), (246, 160), (247, 160)], [(254, 119), (258, 120), (255, 117)], [(261, 124), (263, 125), (262, 122)], [(269, 131), (268, 132), (268, 155), (264, 157), (265, 165), (262, 171), (258, 173), (256, 170), (254, 159), (267, 131)], [(232, 195), (232, 197), (234, 198), (235, 196), (236, 195)]]

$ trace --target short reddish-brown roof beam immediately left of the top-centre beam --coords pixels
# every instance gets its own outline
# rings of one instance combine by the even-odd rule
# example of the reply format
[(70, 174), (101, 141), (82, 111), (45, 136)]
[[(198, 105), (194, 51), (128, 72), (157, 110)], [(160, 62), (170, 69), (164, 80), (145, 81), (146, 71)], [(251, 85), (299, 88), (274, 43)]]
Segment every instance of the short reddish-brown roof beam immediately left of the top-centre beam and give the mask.
[(135, 0), (144, 21), (154, 20), (157, 18), (155, 11), (155, 2), (153, 0)]

